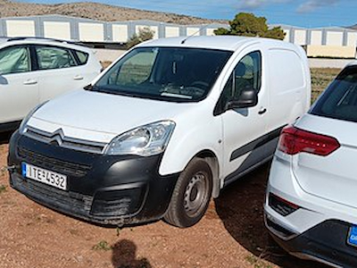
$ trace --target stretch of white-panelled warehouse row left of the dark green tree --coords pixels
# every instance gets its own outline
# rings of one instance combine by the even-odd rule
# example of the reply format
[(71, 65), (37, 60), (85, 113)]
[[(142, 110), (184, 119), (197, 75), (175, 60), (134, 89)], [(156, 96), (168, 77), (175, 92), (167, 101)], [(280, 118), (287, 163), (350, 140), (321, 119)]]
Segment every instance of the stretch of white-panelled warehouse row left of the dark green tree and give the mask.
[(139, 29), (150, 28), (154, 38), (190, 35), (213, 35), (224, 24), (179, 25), (158, 21), (93, 21), (62, 15), (14, 17), (0, 19), (0, 36), (43, 37), (82, 42), (125, 43)]

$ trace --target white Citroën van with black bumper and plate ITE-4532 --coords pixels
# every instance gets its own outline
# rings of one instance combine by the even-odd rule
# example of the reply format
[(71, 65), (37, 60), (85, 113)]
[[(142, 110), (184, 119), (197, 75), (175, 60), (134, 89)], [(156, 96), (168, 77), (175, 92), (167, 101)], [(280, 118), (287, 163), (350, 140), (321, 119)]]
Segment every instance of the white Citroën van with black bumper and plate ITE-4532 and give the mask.
[(242, 37), (149, 41), (91, 85), (37, 107), (12, 136), (11, 185), (104, 224), (188, 227), (270, 160), (307, 111), (303, 48)]

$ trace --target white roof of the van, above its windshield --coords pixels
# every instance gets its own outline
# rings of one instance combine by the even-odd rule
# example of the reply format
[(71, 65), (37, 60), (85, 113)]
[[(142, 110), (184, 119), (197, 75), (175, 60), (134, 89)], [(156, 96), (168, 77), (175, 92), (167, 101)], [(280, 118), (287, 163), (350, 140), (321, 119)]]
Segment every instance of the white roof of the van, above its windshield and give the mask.
[(210, 48), (220, 50), (236, 51), (239, 47), (253, 42), (264, 42), (275, 44), (276, 46), (289, 46), (291, 44), (271, 38), (246, 38), (237, 36), (191, 36), (180, 38), (159, 38), (155, 40), (146, 41), (139, 46), (182, 46), (182, 47), (197, 47)]

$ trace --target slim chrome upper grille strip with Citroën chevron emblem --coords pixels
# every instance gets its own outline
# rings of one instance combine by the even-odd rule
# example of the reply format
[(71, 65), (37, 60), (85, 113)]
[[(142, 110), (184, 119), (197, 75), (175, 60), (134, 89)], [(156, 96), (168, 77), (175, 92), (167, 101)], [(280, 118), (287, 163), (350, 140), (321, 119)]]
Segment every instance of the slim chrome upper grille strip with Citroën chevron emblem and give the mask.
[(103, 154), (104, 147), (106, 146), (105, 143), (101, 142), (65, 137), (61, 129), (54, 131), (54, 133), (50, 133), (44, 130), (28, 127), (24, 135), (47, 144), (56, 144), (59, 147), (94, 154)]

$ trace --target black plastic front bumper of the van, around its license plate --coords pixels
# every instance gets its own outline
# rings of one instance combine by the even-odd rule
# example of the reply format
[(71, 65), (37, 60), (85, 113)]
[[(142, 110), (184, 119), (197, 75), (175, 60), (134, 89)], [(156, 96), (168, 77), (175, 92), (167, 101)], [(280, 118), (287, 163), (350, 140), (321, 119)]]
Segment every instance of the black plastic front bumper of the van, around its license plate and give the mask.
[[(10, 140), (10, 184), (63, 214), (108, 225), (150, 222), (165, 214), (179, 174), (161, 176), (162, 155), (95, 155), (49, 145), (15, 132)], [(67, 189), (22, 176), (21, 163), (67, 175)]]

